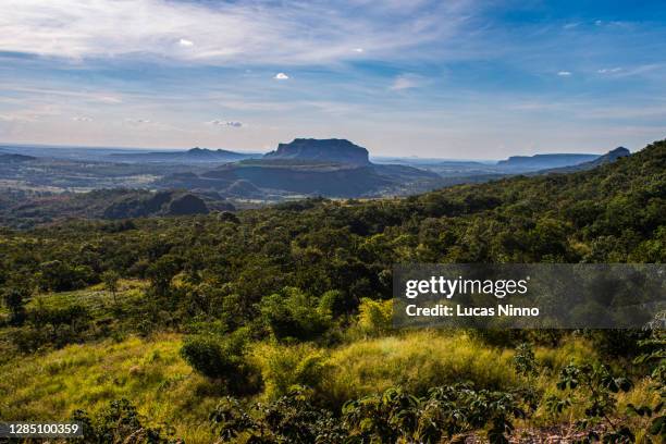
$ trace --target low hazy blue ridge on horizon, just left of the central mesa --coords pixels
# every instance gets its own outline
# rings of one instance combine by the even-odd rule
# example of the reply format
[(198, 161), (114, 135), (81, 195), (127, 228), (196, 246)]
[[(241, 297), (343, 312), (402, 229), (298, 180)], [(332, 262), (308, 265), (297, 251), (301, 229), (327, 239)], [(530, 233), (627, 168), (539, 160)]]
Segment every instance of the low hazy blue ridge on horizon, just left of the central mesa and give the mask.
[(240, 153), (225, 149), (212, 150), (199, 147), (192, 148), (187, 151), (113, 152), (109, 155), (114, 161), (168, 163), (236, 162), (256, 156), (257, 155)]

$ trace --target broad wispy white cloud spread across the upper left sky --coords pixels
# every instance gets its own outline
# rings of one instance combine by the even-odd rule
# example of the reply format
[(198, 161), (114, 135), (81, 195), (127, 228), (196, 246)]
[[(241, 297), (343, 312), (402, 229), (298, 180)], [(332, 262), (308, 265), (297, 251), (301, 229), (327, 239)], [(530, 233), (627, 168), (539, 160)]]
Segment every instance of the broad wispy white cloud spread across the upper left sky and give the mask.
[[(362, 41), (373, 58), (406, 58), (409, 48), (461, 38), (459, 30), (478, 12), (471, 3), (455, 0), (406, 14), (374, 2), (348, 9), (326, 1), (2, 0), (0, 51), (293, 65), (358, 58), (360, 51), (349, 49), (361, 49)], [(196, 45), (183, 37), (189, 29), (197, 32)], [(188, 50), (174, 51), (174, 42)]]

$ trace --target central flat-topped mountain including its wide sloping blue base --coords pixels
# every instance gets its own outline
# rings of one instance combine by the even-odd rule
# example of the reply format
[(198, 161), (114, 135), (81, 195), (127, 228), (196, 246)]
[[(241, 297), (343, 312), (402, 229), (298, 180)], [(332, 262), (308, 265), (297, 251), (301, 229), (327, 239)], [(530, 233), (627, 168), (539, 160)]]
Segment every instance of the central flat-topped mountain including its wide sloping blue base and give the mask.
[(373, 164), (368, 150), (345, 139), (297, 138), (261, 159), (227, 163), (201, 173), (172, 174), (164, 187), (215, 189), (236, 198), (294, 195), (371, 197), (433, 189), (442, 177), (407, 165)]

